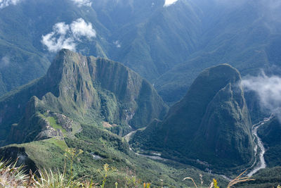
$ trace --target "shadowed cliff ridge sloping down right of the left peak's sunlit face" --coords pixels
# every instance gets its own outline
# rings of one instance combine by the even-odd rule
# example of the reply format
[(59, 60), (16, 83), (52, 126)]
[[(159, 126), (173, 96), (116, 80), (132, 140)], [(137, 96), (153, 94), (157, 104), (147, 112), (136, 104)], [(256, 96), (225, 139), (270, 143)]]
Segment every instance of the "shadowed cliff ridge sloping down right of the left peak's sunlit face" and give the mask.
[(122, 103), (122, 118), (131, 126), (148, 125), (155, 117), (164, 118), (166, 105), (151, 84), (119, 63), (98, 58), (91, 63), (95, 83), (115, 94)]

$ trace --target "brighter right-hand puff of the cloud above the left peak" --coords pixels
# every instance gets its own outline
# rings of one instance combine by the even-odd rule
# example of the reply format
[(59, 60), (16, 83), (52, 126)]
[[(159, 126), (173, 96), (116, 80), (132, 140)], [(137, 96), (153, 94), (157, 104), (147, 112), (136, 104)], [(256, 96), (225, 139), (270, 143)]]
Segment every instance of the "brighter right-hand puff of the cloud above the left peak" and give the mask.
[(91, 39), (92, 37), (96, 37), (96, 31), (93, 30), (92, 24), (86, 23), (82, 18), (72, 22), (70, 27), (75, 38), (87, 37)]

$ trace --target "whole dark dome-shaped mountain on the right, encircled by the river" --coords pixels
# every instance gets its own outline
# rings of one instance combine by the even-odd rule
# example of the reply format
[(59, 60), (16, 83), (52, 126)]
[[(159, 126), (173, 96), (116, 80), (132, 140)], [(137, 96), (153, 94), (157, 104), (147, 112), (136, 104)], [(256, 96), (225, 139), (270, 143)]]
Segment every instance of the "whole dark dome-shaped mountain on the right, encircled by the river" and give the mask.
[(132, 146), (202, 168), (251, 165), (251, 120), (240, 80), (230, 65), (207, 68), (163, 121), (136, 132)]

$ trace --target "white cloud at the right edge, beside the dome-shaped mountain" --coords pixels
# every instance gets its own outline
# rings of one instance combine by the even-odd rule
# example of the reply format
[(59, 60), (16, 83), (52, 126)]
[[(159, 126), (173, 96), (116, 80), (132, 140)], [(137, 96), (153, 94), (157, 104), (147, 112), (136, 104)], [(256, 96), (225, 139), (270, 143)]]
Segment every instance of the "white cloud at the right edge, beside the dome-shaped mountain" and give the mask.
[(256, 92), (261, 108), (274, 113), (281, 122), (281, 77), (266, 76), (245, 77), (242, 80), (245, 89)]

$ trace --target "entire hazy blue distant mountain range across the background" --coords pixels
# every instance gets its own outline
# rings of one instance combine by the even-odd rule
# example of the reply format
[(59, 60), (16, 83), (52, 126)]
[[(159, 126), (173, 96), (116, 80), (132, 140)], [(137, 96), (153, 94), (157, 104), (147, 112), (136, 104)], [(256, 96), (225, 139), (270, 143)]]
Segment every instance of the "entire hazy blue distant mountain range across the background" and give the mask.
[[(204, 68), (219, 63), (242, 75), (261, 68), (279, 74), (277, 1), (178, 0), (164, 7), (164, 0), (98, 0), (89, 5), (30, 0), (1, 8), (0, 94), (44, 75), (55, 54), (48, 52), (54, 50), (50, 45), (122, 62), (155, 84), (169, 104), (184, 96)], [(91, 23), (95, 36), (74, 34), (72, 24), (79, 18), (84, 26)], [(71, 28), (62, 35), (57, 23)], [(46, 35), (48, 44), (42, 42)]]

